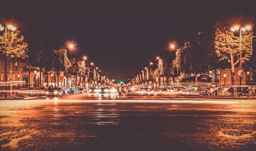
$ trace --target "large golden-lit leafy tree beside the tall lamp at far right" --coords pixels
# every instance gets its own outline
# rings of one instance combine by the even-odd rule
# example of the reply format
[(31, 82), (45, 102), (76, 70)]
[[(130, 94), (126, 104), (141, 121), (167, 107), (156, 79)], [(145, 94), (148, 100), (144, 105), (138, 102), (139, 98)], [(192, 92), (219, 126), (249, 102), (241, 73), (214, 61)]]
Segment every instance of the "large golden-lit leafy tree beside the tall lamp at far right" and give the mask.
[[(240, 61), (240, 38), (236, 33), (230, 30), (230, 23), (228, 20), (219, 21), (215, 28), (215, 52), (220, 61), (230, 63), (231, 67), (231, 81), (234, 84), (234, 67)], [(242, 63), (248, 61), (252, 55), (252, 32), (242, 32)]]

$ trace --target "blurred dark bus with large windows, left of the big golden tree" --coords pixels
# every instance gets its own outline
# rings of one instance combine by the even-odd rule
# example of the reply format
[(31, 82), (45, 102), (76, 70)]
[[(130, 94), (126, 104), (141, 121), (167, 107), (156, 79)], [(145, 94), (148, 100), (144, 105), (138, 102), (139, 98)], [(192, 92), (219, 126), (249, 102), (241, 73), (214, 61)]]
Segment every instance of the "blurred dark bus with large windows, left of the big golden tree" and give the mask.
[(198, 74), (194, 76), (183, 77), (181, 84), (199, 91), (209, 90), (212, 86), (212, 77), (210, 75)]

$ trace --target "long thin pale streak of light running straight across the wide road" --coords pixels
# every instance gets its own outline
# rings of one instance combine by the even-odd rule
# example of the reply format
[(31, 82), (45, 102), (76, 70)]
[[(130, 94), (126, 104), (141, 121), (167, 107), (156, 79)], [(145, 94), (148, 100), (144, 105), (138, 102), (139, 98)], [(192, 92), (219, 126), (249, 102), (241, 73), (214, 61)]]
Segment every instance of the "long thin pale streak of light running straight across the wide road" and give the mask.
[(47, 100), (58, 102), (81, 102), (81, 103), (180, 103), (180, 104), (238, 104), (238, 101), (212, 101), (212, 100)]

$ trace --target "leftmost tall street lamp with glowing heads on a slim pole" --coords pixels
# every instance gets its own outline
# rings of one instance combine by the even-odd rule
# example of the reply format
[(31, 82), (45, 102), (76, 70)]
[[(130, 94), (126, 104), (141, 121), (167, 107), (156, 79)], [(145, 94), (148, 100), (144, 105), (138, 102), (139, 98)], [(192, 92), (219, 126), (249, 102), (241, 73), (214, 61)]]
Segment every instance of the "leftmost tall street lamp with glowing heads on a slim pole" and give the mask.
[[(0, 30), (3, 31), (5, 29), (5, 90), (7, 90), (7, 29), (11, 31), (15, 31), (16, 27), (12, 25), (7, 25), (6, 27), (0, 24)], [(7, 98), (7, 92), (5, 92), (5, 98)]]

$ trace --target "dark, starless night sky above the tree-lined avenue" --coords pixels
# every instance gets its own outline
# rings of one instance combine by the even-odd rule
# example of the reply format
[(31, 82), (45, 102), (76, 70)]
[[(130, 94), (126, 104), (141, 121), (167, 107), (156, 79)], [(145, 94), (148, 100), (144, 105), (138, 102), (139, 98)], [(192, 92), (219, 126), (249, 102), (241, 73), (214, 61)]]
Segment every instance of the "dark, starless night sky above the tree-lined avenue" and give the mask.
[(182, 45), (221, 16), (254, 17), (253, 1), (241, 3), (11, 1), (1, 2), (0, 23), (13, 21), (25, 36), (40, 39), (45, 51), (74, 40), (77, 56), (87, 55), (108, 75), (130, 78), (169, 40)]

